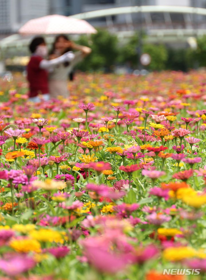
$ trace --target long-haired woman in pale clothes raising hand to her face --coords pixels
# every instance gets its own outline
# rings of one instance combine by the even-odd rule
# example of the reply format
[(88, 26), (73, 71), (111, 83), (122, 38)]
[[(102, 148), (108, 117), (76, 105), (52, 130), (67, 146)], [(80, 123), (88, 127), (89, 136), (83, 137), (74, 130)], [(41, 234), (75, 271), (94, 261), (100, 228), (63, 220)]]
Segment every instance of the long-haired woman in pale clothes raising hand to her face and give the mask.
[(92, 51), (86, 46), (75, 44), (65, 35), (59, 35), (55, 38), (53, 49), (49, 56), (50, 59), (57, 58), (72, 50), (78, 50), (78, 52), (74, 53), (74, 59), (72, 61), (61, 63), (49, 72), (49, 92), (51, 98), (57, 98), (57, 96), (68, 98), (68, 76), (70, 77), (70, 80), (73, 79), (72, 73), (74, 66)]

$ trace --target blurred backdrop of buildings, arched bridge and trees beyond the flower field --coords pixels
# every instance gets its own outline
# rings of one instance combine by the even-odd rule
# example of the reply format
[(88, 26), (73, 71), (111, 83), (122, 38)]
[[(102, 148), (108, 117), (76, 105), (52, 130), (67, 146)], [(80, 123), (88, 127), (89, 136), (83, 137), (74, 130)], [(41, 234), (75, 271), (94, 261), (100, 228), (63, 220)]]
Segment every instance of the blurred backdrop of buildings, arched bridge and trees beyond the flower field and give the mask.
[[(85, 19), (98, 30), (70, 36), (92, 48), (78, 70), (138, 74), (206, 66), (206, 0), (0, 0), (0, 73), (25, 70), (33, 36), (17, 32), (51, 14)], [(53, 40), (46, 36), (49, 47)]]

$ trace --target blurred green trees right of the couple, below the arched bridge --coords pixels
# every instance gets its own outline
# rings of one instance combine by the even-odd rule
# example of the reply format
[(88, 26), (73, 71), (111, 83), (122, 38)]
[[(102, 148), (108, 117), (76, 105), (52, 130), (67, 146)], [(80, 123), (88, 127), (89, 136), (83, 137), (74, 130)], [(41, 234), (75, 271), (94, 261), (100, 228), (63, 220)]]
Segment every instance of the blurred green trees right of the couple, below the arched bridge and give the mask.
[[(123, 46), (120, 46), (116, 35), (110, 34), (105, 29), (99, 29), (90, 39), (81, 36), (77, 43), (92, 48), (92, 53), (78, 64), (79, 70), (112, 72), (111, 66), (118, 64), (129, 65), (132, 69), (137, 68), (138, 33)], [(143, 44), (142, 52), (151, 56), (151, 63), (145, 68), (151, 71), (165, 69), (187, 71), (190, 68), (206, 66), (206, 36), (198, 38), (197, 45), (197, 50), (192, 50), (167, 48), (163, 44)]]

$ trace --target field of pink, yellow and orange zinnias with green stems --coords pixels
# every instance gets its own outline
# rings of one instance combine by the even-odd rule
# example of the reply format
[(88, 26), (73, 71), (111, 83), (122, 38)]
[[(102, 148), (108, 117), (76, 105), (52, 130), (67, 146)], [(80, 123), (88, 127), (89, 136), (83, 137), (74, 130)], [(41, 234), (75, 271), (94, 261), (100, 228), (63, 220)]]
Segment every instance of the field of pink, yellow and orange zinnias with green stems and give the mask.
[(2, 79), (0, 279), (206, 279), (205, 77)]

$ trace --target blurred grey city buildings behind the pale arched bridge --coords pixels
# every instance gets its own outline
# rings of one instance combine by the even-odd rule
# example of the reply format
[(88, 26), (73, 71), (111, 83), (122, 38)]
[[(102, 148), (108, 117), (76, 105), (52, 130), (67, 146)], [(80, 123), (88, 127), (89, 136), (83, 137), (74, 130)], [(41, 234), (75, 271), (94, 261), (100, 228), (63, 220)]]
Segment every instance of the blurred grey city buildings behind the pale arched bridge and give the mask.
[[(206, 8), (206, 0), (0, 0), (0, 36), (16, 33), (29, 19), (49, 14), (75, 15), (88, 11), (109, 9), (124, 6), (141, 5), (175, 5)], [(128, 28), (138, 23), (149, 28), (191, 28), (195, 22), (205, 27), (205, 16), (193, 18), (190, 14), (181, 13), (145, 13), (112, 15), (88, 19), (95, 27), (119, 26)]]

